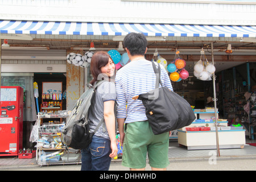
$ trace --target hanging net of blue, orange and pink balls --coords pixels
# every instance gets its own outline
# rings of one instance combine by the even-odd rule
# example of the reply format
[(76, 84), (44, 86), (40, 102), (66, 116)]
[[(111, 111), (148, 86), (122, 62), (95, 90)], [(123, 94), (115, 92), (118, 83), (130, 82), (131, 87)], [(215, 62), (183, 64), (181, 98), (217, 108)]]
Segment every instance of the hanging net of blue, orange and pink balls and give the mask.
[(179, 82), (188, 78), (189, 73), (185, 69), (186, 61), (179, 56), (180, 51), (176, 51), (174, 60), (171, 64), (168, 64), (167, 71), (170, 72), (170, 79), (172, 81)]

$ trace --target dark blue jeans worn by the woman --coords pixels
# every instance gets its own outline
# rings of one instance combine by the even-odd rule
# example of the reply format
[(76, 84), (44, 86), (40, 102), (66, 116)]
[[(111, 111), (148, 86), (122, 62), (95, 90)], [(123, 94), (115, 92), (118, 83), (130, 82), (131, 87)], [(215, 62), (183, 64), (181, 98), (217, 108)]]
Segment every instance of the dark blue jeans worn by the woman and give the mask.
[(108, 171), (112, 160), (110, 153), (110, 140), (94, 135), (92, 143), (81, 150), (81, 171)]

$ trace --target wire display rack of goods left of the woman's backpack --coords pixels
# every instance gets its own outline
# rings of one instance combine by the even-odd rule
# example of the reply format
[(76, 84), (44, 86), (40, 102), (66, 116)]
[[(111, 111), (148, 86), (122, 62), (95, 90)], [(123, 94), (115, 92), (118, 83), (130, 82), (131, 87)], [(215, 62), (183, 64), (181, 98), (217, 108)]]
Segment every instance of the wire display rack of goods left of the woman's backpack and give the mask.
[[(40, 166), (51, 164), (79, 164), (81, 154), (79, 150), (62, 146), (61, 129), (64, 124), (44, 123), (40, 125), (42, 118), (68, 118), (69, 114), (63, 111), (61, 114), (38, 115), (38, 140), (36, 144), (36, 163)], [(71, 152), (69, 152), (71, 151)], [(70, 157), (69, 157), (70, 156)]]

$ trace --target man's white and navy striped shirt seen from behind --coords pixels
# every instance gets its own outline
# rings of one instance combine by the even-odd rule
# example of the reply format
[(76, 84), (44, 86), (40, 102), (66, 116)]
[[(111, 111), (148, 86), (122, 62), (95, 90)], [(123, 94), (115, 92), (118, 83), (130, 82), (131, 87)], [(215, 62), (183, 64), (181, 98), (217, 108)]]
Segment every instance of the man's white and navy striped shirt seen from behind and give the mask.
[[(155, 64), (158, 68), (158, 64)], [(160, 69), (162, 85), (173, 91), (166, 69), (163, 65), (160, 65)], [(147, 117), (142, 101), (133, 100), (132, 98), (155, 89), (155, 81), (156, 76), (151, 61), (145, 59), (134, 60), (119, 69), (115, 76), (117, 118), (126, 118), (125, 123), (146, 121)], [(161, 85), (159, 84), (159, 86)]]

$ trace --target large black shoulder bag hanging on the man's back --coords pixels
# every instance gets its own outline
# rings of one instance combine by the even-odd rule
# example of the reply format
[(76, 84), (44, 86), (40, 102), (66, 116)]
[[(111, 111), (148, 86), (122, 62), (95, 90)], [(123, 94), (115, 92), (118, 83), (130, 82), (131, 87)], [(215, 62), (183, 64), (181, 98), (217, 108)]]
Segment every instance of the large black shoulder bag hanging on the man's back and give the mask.
[[(156, 75), (155, 89), (138, 97), (146, 108), (146, 116), (153, 133), (162, 134), (191, 125), (196, 119), (191, 105), (175, 92), (162, 85), (160, 65), (158, 69), (152, 61)], [(159, 88), (159, 83), (162, 87)]]

